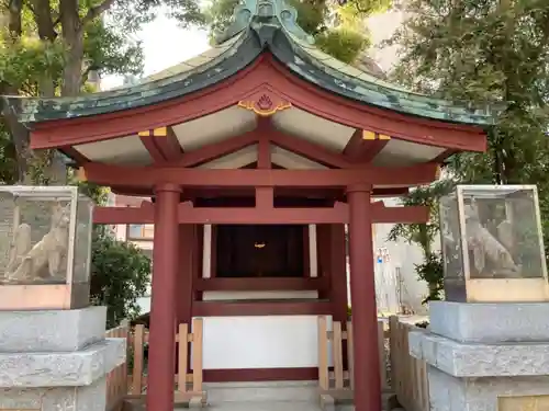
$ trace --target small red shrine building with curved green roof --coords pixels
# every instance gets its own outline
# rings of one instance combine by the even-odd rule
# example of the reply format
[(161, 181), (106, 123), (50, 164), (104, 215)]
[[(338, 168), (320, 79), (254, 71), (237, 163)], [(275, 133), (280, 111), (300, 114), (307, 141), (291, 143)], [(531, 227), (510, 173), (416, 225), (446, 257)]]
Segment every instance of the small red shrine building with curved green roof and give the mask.
[(282, 0), (248, 0), (216, 46), (139, 84), (7, 99), (32, 148), (153, 198), (94, 212), (97, 224), (155, 225), (149, 410), (173, 409), (175, 324), (193, 317), (205, 320), (206, 380), (315, 379), (316, 316), (347, 320), (345, 225), (356, 410), (381, 410), (372, 224), (428, 210), (379, 198), (435, 181), (452, 153), (485, 150), (488, 109), (334, 59)]

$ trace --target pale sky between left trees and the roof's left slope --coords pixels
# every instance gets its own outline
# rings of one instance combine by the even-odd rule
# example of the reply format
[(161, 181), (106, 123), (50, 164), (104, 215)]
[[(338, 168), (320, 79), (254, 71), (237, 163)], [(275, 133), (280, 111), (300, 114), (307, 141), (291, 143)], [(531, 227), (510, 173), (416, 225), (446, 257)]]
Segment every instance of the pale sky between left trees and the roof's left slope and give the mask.
[[(173, 19), (163, 14), (146, 24), (137, 38), (143, 42), (145, 76), (188, 60), (209, 48), (208, 32), (198, 28), (181, 28)], [(167, 44), (167, 39), (171, 44)], [(173, 46), (175, 45), (175, 46)], [(107, 76), (101, 79), (101, 89), (122, 85), (122, 77)]]

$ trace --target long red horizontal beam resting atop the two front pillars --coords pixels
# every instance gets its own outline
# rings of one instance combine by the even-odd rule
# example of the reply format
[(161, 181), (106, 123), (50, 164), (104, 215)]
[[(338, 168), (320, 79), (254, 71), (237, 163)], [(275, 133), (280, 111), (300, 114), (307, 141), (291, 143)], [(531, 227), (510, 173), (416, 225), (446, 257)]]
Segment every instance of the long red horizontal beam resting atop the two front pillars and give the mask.
[(208, 170), (88, 163), (83, 170), (88, 181), (109, 186), (153, 187), (159, 183), (172, 183), (186, 187), (345, 187), (352, 184), (426, 184), (436, 180), (438, 165), (369, 165), (354, 170)]

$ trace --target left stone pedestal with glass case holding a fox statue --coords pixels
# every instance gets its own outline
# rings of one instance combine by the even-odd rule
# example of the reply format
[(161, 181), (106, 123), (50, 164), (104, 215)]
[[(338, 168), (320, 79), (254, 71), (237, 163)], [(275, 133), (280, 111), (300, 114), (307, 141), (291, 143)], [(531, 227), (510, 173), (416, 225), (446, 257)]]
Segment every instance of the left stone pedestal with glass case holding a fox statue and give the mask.
[(126, 345), (89, 304), (91, 218), (77, 187), (0, 187), (0, 411), (105, 411)]

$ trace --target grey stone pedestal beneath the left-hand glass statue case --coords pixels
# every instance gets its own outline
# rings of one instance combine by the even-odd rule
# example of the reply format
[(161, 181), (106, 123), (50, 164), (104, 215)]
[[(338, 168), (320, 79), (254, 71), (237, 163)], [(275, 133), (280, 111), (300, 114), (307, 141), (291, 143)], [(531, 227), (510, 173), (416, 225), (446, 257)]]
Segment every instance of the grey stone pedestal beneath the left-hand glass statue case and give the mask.
[(104, 307), (0, 312), (0, 410), (104, 411), (107, 374), (125, 361)]

